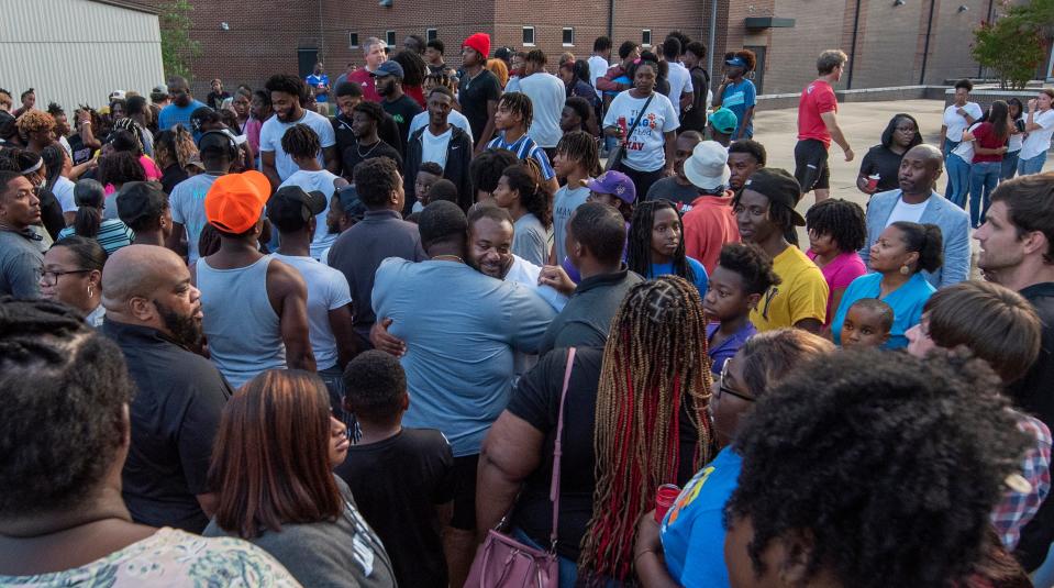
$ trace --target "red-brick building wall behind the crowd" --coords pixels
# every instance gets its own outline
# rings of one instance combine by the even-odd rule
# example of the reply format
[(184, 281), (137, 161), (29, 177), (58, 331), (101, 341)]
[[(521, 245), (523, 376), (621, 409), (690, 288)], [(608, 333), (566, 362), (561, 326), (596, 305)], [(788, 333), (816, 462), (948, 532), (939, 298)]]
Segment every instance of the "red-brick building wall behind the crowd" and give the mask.
[[(143, 0), (162, 5), (167, 0)], [(797, 92), (816, 76), (816, 57), (826, 48), (841, 47), (853, 55), (853, 88), (918, 84), (931, 2), (908, 0), (896, 7), (887, 0), (717, 0), (714, 85), (720, 82), (721, 56), (739, 47), (763, 47), (757, 81), (763, 93)], [(976, 76), (969, 56), (970, 32), (987, 18), (992, 0), (932, 0), (925, 82)], [(857, 3), (859, 18), (856, 16)], [(459, 65), (461, 42), (474, 32), (491, 35), (491, 47), (523, 44), (523, 26), (534, 27), (534, 46), (553, 63), (564, 51), (586, 57), (593, 40), (608, 33), (612, 18), (614, 51), (625, 40), (644, 41), (651, 31), (655, 49), (669, 31), (679, 30), (704, 44), (709, 41), (712, 4), (708, 0), (652, 0), (644, 10), (636, 0), (392, 0), (392, 7), (376, 0), (292, 3), (257, 0), (252, 3), (198, 1), (191, 14), (191, 36), (201, 43), (202, 55), (192, 62), (193, 90), (208, 92), (209, 80), (221, 77), (228, 88), (238, 84), (260, 87), (274, 73), (298, 73), (298, 51), (313, 49), (326, 64), (332, 79), (348, 62), (362, 64), (360, 47), (350, 46), (350, 34), (359, 44), (369, 36), (395, 34), (397, 47), (406, 35), (426, 35), (434, 29), (446, 43), (446, 60)], [(966, 5), (966, 11), (959, 11)], [(747, 30), (751, 16), (795, 19), (792, 27)], [(228, 29), (222, 30), (221, 23)], [(572, 46), (563, 43), (564, 27), (572, 27)], [(617, 55), (615, 55), (617, 58)], [(845, 87), (847, 79), (841, 84)]]

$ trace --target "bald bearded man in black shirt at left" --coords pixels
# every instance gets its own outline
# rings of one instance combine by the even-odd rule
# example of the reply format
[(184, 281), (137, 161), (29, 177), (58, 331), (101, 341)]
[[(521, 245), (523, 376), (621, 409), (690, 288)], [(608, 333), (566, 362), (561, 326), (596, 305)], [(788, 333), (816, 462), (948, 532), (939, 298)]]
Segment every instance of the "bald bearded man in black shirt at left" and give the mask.
[(198, 355), (201, 300), (178, 255), (129, 245), (102, 269), (102, 333), (124, 353), (138, 393), (122, 473), (132, 519), (200, 533), (215, 507), (206, 480), (220, 414), (233, 390)]

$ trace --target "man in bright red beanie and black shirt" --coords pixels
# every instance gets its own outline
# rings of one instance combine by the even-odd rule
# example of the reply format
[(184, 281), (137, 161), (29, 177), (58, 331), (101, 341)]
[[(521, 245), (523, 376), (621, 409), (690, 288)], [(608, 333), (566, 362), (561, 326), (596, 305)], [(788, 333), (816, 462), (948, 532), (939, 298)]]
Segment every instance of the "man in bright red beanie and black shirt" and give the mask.
[(486, 148), (495, 136), (495, 112), (501, 98), (501, 84), (498, 77), (486, 68), (490, 54), (490, 35), (476, 33), (468, 35), (462, 43), (462, 66), (465, 75), (457, 84), (457, 100), (462, 113), (468, 119), (468, 125), (476, 137), (476, 153)]

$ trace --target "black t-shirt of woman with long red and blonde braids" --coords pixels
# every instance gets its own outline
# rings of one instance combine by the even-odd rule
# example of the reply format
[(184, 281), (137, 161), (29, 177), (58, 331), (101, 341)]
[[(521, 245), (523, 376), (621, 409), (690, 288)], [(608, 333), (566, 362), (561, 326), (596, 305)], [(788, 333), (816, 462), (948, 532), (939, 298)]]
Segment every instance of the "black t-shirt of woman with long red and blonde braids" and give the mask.
[[(603, 347), (578, 347), (572, 369), (567, 400), (564, 402), (564, 442), (559, 480), (559, 521), (556, 552), (578, 559), (581, 537), (592, 518), (592, 492), (596, 488), (593, 429), (597, 389)], [(545, 433), (542, 465), (524, 481), (512, 521), (540, 545), (548, 545), (553, 529), (553, 503), (548, 491), (552, 482), (553, 448), (559, 418), (559, 396), (564, 387), (567, 350), (557, 347), (545, 354), (534, 368), (523, 375), (509, 401), (508, 410), (531, 426)], [(695, 474), (691, 452), (697, 432), (688, 424), (687, 411), (680, 418), (680, 471), (684, 485)]]

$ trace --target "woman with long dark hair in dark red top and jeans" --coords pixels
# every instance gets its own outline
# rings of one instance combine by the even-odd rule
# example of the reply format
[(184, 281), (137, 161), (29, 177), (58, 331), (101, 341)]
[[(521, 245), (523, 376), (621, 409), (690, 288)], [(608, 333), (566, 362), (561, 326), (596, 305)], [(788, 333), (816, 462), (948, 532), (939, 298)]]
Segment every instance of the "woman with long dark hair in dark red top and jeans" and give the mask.
[(988, 117), (963, 133), (963, 142), (974, 142), (974, 159), (969, 168), (969, 223), (974, 229), (985, 222), (991, 204), (991, 191), (1002, 176), (1002, 155), (1013, 122), (1002, 100), (988, 107)]

